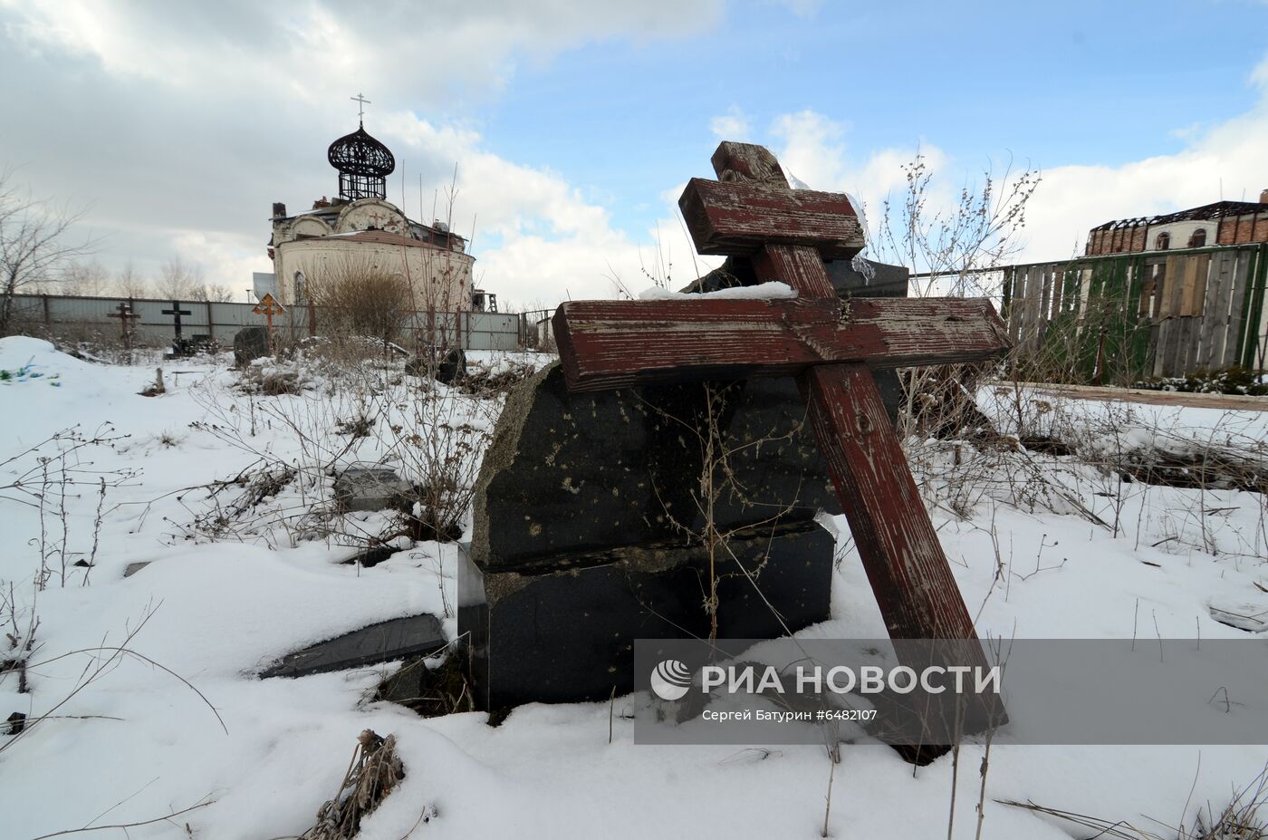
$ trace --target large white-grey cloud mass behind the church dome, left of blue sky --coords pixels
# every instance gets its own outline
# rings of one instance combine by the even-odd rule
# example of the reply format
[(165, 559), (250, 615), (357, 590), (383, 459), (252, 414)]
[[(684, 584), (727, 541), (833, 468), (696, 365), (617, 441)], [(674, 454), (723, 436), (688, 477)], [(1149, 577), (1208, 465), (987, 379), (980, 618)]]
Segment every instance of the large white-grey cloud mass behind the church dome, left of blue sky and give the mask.
[[(203, 264), (209, 282), (245, 287), (251, 270), (269, 270), (268, 202), (294, 211), (330, 193), (322, 151), (335, 135), (314, 138), (313, 128), (347, 126), (355, 113), (347, 98), (364, 90), (374, 103), (366, 127), (399, 162), (389, 198), (399, 200), (394, 179), (403, 174), (406, 209), (421, 214), (413, 203), (421, 174), (420, 203), (430, 214), (432, 189), (449, 183), (456, 162), (455, 230), (468, 235), (474, 226), (477, 277), (503, 301), (610, 297), (612, 275), (631, 291), (645, 285), (656, 230), (640, 259), (639, 244), (559, 174), (489, 152), (467, 126), (416, 113), (496, 95), (520, 61), (549, 61), (598, 39), (696, 33), (718, 20), (721, 1), (596, 3), (582, 13), (566, 0), (448, 0), (380, 11), (318, 0), (0, 0), (0, 43), (22, 48), (0, 58), (0, 74), (20, 67), (29, 84), (63, 100), (86, 98), (100, 112), (76, 108), (80, 126), (55, 128), (52, 96), (47, 108), (41, 103), (42, 119), (6, 138), (16, 147), (9, 154), (34, 161), (41, 190), (100, 199), (90, 221), (120, 249), (103, 256), (153, 266), (175, 251)], [(44, 77), (23, 60), (63, 75)], [(109, 141), (86, 143), (87, 131)], [(672, 204), (664, 209), (662, 247), (682, 253), (671, 241), (681, 240)]]

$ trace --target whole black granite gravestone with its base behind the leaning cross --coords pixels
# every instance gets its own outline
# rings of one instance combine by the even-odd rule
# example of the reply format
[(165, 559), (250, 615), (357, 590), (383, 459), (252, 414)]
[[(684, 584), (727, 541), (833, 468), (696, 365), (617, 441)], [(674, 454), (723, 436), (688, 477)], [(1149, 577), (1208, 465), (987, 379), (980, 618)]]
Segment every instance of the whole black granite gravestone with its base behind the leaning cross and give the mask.
[(573, 395), (552, 365), (517, 386), (459, 575), (477, 703), (604, 699), (630, 690), (635, 638), (709, 636), (710, 425), (730, 450), (715, 471), (714, 524), (730, 533), (714, 557), (719, 636), (827, 619), (834, 542), (815, 515), (839, 508), (804, 412), (791, 379)]

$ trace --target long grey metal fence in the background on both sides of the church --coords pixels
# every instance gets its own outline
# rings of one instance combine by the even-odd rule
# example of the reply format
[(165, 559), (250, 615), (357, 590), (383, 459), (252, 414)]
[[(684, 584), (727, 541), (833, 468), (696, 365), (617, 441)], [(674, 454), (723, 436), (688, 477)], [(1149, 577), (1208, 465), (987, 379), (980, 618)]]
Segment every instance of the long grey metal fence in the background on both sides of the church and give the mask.
[[(15, 331), (32, 335), (122, 343), (120, 306), (137, 316), (128, 318), (127, 329), (132, 330), (132, 343), (138, 346), (171, 344), (176, 338), (176, 311), (180, 311), (181, 338), (205, 336), (222, 346), (232, 346), (238, 330), (265, 325), (265, 316), (252, 312), (254, 303), (60, 294), (14, 296), (13, 321)], [(283, 335), (303, 338), (321, 335), (322, 321), (320, 308), (298, 306), (276, 316), (274, 325)], [(520, 317), (498, 312), (415, 312), (394, 340), (413, 343), (429, 331), (436, 341), (468, 350), (517, 350), (524, 344)]]

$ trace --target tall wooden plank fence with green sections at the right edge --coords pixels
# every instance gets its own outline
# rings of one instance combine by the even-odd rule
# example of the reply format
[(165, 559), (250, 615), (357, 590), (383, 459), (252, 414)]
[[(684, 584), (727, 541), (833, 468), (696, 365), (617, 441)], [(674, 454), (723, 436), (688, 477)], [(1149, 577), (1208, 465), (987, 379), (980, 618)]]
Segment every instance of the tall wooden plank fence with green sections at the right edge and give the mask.
[(1023, 357), (1071, 381), (1263, 369), (1265, 278), (1268, 244), (1012, 265), (1004, 318)]

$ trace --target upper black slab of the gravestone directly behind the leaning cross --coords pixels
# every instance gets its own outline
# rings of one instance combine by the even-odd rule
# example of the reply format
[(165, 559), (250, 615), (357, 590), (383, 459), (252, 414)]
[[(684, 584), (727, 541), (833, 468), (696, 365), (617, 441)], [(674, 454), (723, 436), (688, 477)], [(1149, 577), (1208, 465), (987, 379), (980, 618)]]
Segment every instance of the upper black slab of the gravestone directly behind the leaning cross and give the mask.
[(517, 384), (476, 482), (472, 560), (486, 570), (557, 568), (574, 555), (683, 544), (683, 529), (704, 530), (704, 447), (694, 430), (710, 417), (732, 450), (737, 490), (716, 501), (718, 530), (841, 513), (791, 378), (713, 393), (701, 383), (569, 393), (558, 363)]

